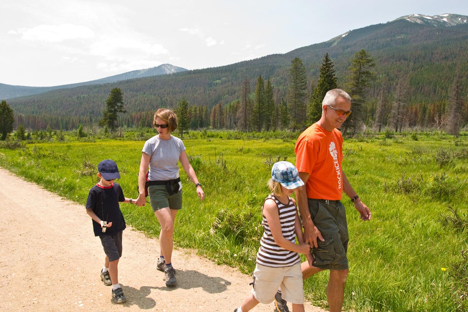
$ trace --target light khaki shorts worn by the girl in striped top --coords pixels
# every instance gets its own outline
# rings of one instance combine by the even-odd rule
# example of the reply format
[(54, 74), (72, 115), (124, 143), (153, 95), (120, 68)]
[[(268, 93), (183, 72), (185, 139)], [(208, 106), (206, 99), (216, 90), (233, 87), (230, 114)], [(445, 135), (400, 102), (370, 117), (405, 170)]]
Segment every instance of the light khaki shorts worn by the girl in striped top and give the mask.
[(281, 297), (296, 305), (304, 303), (304, 286), (300, 262), (290, 267), (272, 268), (256, 264), (252, 294), (263, 304), (269, 304), (275, 299), (275, 294), (281, 286)]

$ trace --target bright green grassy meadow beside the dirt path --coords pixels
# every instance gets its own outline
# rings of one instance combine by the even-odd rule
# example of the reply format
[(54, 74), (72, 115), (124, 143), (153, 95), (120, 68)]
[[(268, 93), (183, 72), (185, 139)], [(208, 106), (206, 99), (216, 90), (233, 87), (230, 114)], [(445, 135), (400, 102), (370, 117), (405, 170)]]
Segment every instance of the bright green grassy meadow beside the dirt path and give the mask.
[[(251, 273), (263, 233), (261, 205), (269, 193), (271, 165), (295, 163), (295, 136), (234, 139), (226, 133), (191, 133), (183, 141), (206, 198), (199, 202), (181, 168), (184, 196), (176, 246), (196, 248), (217, 263)], [(98, 139), (0, 148), (0, 166), (83, 204), (85, 214), (88, 190), (97, 182), (97, 164), (103, 159), (117, 162), (125, 196), (137, 197), (143, 144)], [(468, 257), (462, 253), (468, 249), (467, 135), (345, 139), (344, 154), (344, 172), (372, 211), (371, 221), (361, 221), (351, 201), (343, 200), (350, 232), (345, 309), (468, 311)], [(127, 224), (148, 236), (159, 234), (149, 204), (121, 204), (121, 209)], [(327, 272), (321, 272), (305, 282), (306, 297), (314, 305), (326, 307), (327, 281)]]

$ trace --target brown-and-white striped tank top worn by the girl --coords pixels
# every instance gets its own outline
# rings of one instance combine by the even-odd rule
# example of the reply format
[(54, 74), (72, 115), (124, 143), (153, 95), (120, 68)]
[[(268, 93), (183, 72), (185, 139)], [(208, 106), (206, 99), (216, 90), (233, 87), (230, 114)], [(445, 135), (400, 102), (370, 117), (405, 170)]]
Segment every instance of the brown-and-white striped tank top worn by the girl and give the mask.
[[(279, 222), (281, 223), (281, 231), (285, 239), (292, 243), (296, 243), (296, 233), (294, 232), (294, 221), (296, 219), (296, 206), (292, 202), (291, 197), (288, 196), (289, 202), (285, 205), (278, 201), (276, 196), (270, 194), (265, 200), (273, 199), (278, 207)], [(264, 202), (263, 202), (264, 203)], [(260, 248), (257, 253), (257, 263), (267, 267), (289, 267), (300, 262), (299, 254), (295, 251), (286, 250), (279, 247), (273, 235), (271, 234), (270, 226), (263, 215), (262, 208), (262, 225), (263, 236), (260, 239)]]

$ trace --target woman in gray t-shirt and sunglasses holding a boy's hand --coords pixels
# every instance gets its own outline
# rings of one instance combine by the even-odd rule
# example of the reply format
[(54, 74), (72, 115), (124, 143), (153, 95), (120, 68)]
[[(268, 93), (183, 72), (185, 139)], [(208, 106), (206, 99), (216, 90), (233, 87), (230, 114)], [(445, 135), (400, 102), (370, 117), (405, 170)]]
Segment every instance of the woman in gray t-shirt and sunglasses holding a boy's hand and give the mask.
[(156, 268), (164, 272), (166, 286), (173, 286), (176, 284), (176, 271), (172, 267), (171, 260), (174, 220), (177, 210), (182, 208), (182, 184), (177, 166), (179, 160), (183, 170), (195, 183), (200, 201), (205, 198), (205, 193), (198, 182), (197, 174), (190, 166), (182, 140), (171, 135), (171, 132), (177, 128), (176, 114), (170, 109), (158, 109), (154, 114), (153, 123), (158, 134), (147, 140), (143, 146), (138, 175), (139, 196), (135, 204), (145, 205), (146, 170), (149, 166), (148, 197), (154, 215), (161, 225), (159, 235), (161, 249)]

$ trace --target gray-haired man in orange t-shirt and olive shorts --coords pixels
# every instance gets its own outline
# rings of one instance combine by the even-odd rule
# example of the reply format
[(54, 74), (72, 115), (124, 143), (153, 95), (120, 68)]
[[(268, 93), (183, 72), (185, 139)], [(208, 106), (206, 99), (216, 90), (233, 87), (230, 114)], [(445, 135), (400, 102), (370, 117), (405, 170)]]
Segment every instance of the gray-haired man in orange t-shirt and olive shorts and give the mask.
[(327, 92), (322, 102), (322, 117), (297, 139), (294, 152), (299, 176), (306, 183), (296, 191), (304, 237), (314, 257), (302, 263), (306, 279), (330, 270), (327, 298), (330, 312), (341, 311), (344, 284), (348, 276), (348, 227), (340, 200), (343, 192), (351, 198), (362, 220), (371, 212), (351, 187), (341, 167), (343, 137), (340, 128), (351, 114), (351, 97), (341, 89)]

